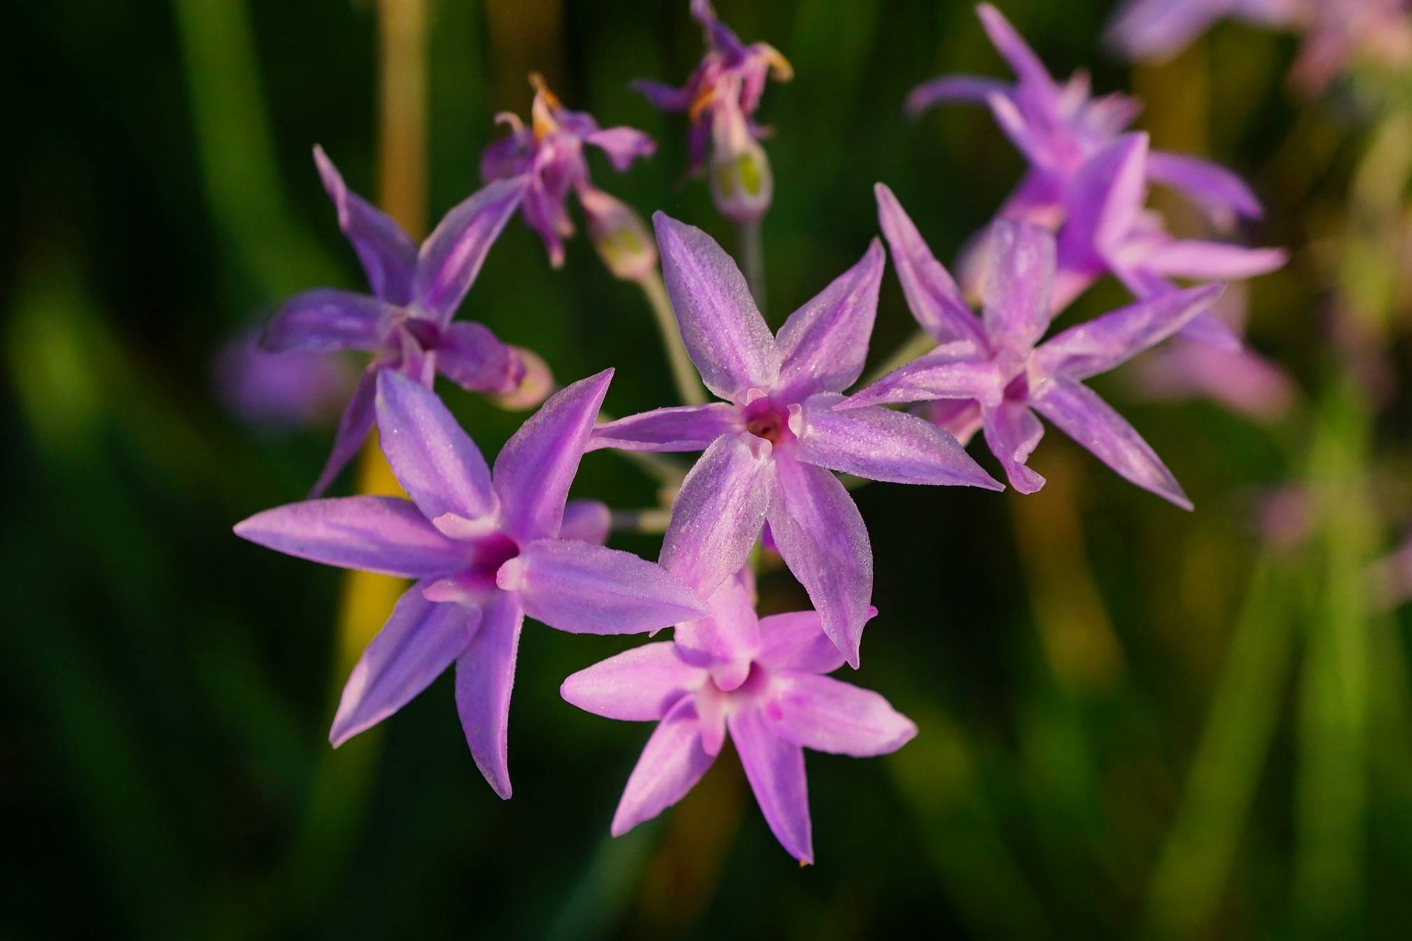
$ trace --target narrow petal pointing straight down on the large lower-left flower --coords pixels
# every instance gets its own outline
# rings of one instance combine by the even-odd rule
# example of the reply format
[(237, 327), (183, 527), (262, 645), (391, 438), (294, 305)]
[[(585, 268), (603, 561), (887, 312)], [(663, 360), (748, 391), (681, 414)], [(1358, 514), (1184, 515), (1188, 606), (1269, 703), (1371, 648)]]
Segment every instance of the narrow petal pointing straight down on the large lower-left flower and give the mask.
[(456, 659), (456, 712), (470, 756), (490, 787), (510, 800), (510, 691), (524, 612), (504, 591), (486, 604), (470, 645)]

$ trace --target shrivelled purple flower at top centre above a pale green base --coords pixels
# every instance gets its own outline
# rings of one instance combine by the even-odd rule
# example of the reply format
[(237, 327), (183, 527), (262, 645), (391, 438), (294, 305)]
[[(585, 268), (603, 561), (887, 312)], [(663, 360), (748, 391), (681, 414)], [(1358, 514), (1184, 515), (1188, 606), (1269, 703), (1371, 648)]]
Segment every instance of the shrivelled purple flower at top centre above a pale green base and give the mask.
[(664, 111), (685, 113), (689, 172), (706, 168), (720, 214), (740, 223), (760, 219), (774, 195), (774, 175), (760, 140), (768, 128), (755, 123), (765, 79), (788, 82), (794, 69), (765, 42), (746, 45), (716, 16), (710, 0), (692, 0), (702, 25), (706, 55), (682, 87), (638, 79), (633, 87)]

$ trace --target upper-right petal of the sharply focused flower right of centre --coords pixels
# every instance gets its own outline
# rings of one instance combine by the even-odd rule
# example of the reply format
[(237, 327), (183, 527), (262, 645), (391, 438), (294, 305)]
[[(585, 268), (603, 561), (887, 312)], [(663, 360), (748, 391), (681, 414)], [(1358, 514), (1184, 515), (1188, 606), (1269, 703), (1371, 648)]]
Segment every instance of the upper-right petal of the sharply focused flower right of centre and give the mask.
[(1086, 380), (1168, 339), (1207, 310), (1223, 285), (1171, 291), (1069, 327), (1045, 341), (1035, 360), (1045, 372)]

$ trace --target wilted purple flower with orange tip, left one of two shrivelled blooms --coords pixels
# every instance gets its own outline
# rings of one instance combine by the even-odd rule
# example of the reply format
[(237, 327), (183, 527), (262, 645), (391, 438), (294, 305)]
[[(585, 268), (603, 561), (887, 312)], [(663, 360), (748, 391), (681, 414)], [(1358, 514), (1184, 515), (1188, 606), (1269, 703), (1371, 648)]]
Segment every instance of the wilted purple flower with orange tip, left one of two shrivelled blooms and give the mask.
[(573, 236), (568, 206), (572, 193), (609, 271), (627, 281), (641, 278), (657, 265), (652, 238), (627, 203), (593, 185), (583, 148), (597, 147), (621, 174), (640, 157), (651, 157), (657, 145), (642, 131), (600, 128), (587, 111), (563, 107), (539, 75), (531, 75), (530, 83), (535, 89), (530, 126), (508, 111), (496, 116), (496, 121), (510, 127), (510, 134), (486, 148), (480, 158), (481, 179), (489, 183), (528, 176), (521, 213), (544, 241), (552, 267), (563, 265), (563, 240)]

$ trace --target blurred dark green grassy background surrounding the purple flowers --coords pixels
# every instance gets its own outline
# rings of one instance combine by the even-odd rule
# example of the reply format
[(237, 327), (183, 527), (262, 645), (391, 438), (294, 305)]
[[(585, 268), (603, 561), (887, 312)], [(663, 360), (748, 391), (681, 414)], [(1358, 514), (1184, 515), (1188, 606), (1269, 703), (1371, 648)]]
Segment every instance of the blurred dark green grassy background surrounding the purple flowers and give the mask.
[[(309, 148), (377, 193), (377, 4), (13, 4), (0, 935), (1405, 937), (1409, 621), (1380, 614), (1363, 576), (1412, 508), (1405, 251), (1389, 234), (1408, 216), (1406, 100), (1299, 99), (1288, 35), (1224, 25), (1134, 72), (1100, 47), (1107, 0), (1001, 6), (1058, 75), (1087, 66), (1099, 90), (1144, 96), (1156, 145), (1254, 182), (1269, 217), (1247, 234), (1293, 261), (1252, 285), (1252, 343), (1300, 401), (1258, 426), (1139, 401), (1121, 371), (1096, 382), (1190, 515), (1058, 433), (1034, 497), (860, 490), (882, 615), (857, 679), (921, 735), (884, 759), (809, 755), (818, 865), (799, 869), (729, 756), (609, 838), (648, 727), (583, 714), (558, 684), (635, 639), (525, 631), (513, 801), (476, 772), (446, 677), (378, 731), (326, 743), (356, 653), (345, 577), (230, 526), (299, 499), (332, 427), (241, 423), (212, 361), (284, 295), (363, 286)], [(936, 73), (1004, 73), (970, 4), (717, 8), (796, 71), (762, 111), (778, 130), (772, 324), (861, 254), (873, 182), (949, 258), (1018, 179), (981, 110), (901, 117)], [(733, 247), (705, 185), (681, 181), (682, 121), (627, 89), (681, 82), (699, 54), (685, 0), (428, 0), (432, 219), (477, 185), (491, 117), (527, 111), (535, 69), (569, 107), (658, 141), (623, 176), (594, 162), (600, 186)], [(1123, 298), (1100, 285), (1077, 316)], [(641, 295), (582, 238), (549, 272), (513, 223), (460, 316), (563, 380), (618, 367), (616, 413), (671, 403)], [(1341, 319), (1392, 368), (1377, 395), (1334, 356)], [(888, 275), (873, 360), (911, 329)], [(445, 388), (487, 453), (521, 419)], [(1313, 494), (1309, 535), (1274, 545), (1258, 511), (1288, 484)], [(652, 502), (611, 453), (585, 460), (576, 492)], [(803, 607), (786, 573), (761, 594)]]

